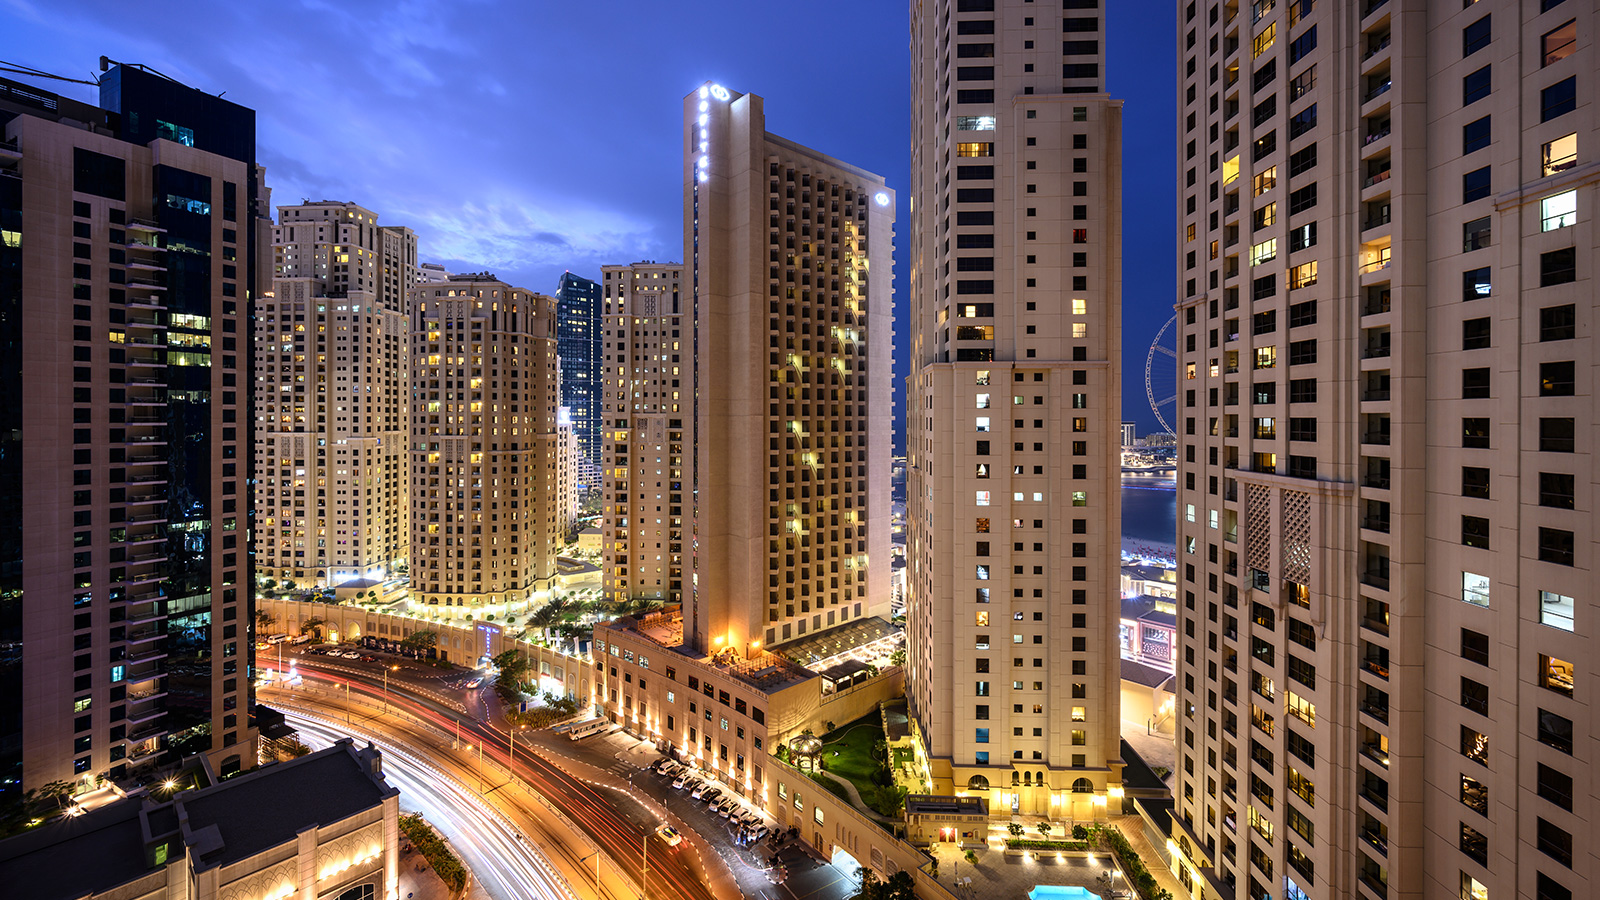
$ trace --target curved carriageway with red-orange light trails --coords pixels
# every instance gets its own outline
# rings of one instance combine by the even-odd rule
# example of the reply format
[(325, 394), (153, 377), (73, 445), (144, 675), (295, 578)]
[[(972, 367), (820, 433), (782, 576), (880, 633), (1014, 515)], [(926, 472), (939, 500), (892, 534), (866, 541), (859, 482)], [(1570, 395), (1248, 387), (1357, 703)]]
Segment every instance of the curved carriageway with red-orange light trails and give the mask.
[[(445, 737), (443, 746), (448, 748), (450, 735), (453, 729), (461, 729), (461, 737), (466, 743), (475, 745), (477, 751), (486, 756), (486, 770), (494, 775), (493, 769), (504, 769), (510, 762), (509, 756), (509, 740), (507, 735), (493, 727), (482, 725), (470, 719), (461, 721), (459, 711), (445, 708), (434, 698), (408, 695), (403, 690), (395, 690), (390, 684), (387, 693), (387, 708), (392, 711), (389, 716), (381, 716), (378, 713), (378, 703), (382, 698), (381, 684), (373, 679), (368, 681), (365, 674), (357, 673), (331, 673), (331, 671), (310, 671), (302, 668), (301, 674), (312, 681), (330, 684), (342, 693), (350, 690), (357, 701), (370, 703), (371, 709), (362, 711), (355, 709), (354, 721), (357, 727), (376, 727), (382, 724), (386, 729), (397, 729), (400, 725), (410, 727), (405, 719), (414, 719), (422, 727), (429, 727), (437, 733), (429, 735), (400, 735), (397, 740), (403, 746), (413, 748), (418, 754), (427, 754), (430, 759), (450, 759), (450, 753), (434, 753), (430, 748), (440, 746), (440, 735)], [(299, 692), (283, 693), (280, 690), (262, 692), (262, 701), (272, 705), (278, 698), (288, 700)], [(325, 695), (322, 698), (306, 697), (306, 701), (318, 703), (318, 713), (326, 717), (328, 722), (336, 722), (349, 716), (347, 706), (349, 700), (339, 697), (338, 693)], [(394, 713), (400, 713), (398, 716)], [(626, 802), (624, 796), (606, 796), (594, 785), (584, 783), (563, 772), (562, 769), (552, 765), (549, 761), (536, 756), (531, 746), (517, 746), (517, 781), (525, 781), (539, 796), (552, 802), (568, 822), (581, 823), (584, 833), (589, 839), (598, 842), (605, 850), (611, 866), (621, 866), (627, 871), (627, 878), (608, 871), (605, 878), (606, 894), (616, 898), (635, 900), (638, 897), (638, 871), (645, 844), (651, 844), (648, 854), (648, 874), (650, 874), (650, 890), (648, 897), (656, 898), (691, 898), (691, 900), (712, 900), (715, 892), (709, 889), (706, 882), (707, 865), (720, 865), (722, 860), (712, 852), (709, 860), (701, 855), (699, 847), (690, 847), (690, 841), (685, 842), (685, 849), (680, 852), (669, 850), (661, 841), (651, 838), (651, 831), (656, 823), (661, 822), (659, 815), (651, 814), (637, 804)], [(469, 772), (464, 777), (469, 783), (474, 775)], [(493, 778), (491, 778), (493, 780)], [(488, 788), (490, 794), (496, 791), (502, 793), (502, 788), (510, 785), (506, 783), (494, 785)], [(682, 825), (682, 822), (674, 820), (674, 825)], [(680, 828), (682, 831), (682, 828)], [(694, 841), (698, 844), (698, 841)], [(587, 854), (589, 850), (582, 850)], [(563, 871), (571, 871), (571, 860), (560, 860)], [(586, 863), (586, 865), (594, 865)], [(608, 866), (610, 868), (610, 866)], [(574, 889), (584, 895), (592, 895), (592, 878), (581, 882), (579, 878), (571, 876)]]

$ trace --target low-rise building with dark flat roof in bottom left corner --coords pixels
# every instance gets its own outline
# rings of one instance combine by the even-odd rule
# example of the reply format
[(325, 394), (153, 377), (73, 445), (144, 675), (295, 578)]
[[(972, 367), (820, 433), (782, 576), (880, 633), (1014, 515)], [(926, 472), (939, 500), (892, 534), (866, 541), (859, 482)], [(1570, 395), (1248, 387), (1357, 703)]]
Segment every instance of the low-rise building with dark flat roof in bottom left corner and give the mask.
[(349, 738), (168, 801), (133, 794), (0, 841), (0, 884), (32, 900), (395, 900), (400, 791)]

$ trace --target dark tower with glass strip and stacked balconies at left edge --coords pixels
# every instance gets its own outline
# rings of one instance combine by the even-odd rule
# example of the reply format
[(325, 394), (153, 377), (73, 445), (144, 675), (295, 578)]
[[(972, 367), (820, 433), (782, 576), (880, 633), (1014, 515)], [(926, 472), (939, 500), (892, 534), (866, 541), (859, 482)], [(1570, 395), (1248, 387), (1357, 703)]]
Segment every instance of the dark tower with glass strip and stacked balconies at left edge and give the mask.
[(0, 793), (254, 765), (256, 114), (0, 80)]

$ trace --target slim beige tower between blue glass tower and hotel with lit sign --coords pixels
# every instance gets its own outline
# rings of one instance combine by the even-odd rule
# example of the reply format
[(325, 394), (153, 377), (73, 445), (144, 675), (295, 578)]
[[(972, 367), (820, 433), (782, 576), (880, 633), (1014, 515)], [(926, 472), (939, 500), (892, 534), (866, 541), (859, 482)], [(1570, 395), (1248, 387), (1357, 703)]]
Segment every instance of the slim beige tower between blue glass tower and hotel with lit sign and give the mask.
[[(682, 263), (602, 266), (605, 599), (683, 599), (694, 356)], [(686, 439), (686, 440), (685, 440)]]

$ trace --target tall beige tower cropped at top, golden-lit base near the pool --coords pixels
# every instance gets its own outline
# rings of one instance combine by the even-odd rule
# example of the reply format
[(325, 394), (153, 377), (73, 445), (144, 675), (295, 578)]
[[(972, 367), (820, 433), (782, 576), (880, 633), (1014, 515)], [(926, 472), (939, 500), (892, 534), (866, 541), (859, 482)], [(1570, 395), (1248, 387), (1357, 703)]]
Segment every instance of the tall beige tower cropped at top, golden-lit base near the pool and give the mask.
[(912, 6), (906, 690), (933, 793), (1074, 818), (1122, 802), (1122, 101), (1093, 6)]

